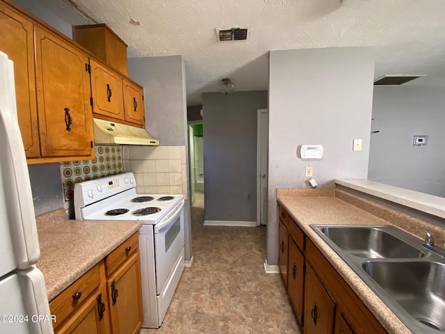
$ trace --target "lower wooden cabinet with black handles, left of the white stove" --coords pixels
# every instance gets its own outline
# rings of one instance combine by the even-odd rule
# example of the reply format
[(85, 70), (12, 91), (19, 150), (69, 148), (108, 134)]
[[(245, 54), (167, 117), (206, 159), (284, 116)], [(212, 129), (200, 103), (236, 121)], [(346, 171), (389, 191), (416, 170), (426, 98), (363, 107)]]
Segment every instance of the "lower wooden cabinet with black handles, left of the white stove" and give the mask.
[[(107, 257), (50, 301), (54, 333), (138, 333), (143, 322), (138, 232)], [(107, 263), (113, 263), (108, 274)]]

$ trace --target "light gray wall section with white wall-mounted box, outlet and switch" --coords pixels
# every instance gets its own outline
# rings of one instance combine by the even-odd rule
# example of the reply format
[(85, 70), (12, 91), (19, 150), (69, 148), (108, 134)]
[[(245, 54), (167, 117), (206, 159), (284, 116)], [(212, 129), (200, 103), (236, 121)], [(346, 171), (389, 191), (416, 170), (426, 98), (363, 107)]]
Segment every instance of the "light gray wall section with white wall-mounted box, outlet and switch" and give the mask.
[[(268, 264), (278, 262), (275, 189), (308, 187), (300, 145), (323, 145), (323, 159), (312, 160), (320, 187), (367, 177), (373, 75), (371, 47), (270, 51)], [(362, 139), (362, 151), (353, 151), (353, 139)]]

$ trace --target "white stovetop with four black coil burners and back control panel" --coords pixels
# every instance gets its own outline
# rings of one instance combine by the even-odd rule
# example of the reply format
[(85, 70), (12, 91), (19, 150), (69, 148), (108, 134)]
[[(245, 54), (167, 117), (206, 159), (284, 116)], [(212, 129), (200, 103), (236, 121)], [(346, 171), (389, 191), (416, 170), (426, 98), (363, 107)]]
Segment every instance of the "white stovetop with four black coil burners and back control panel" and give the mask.
[(133, 173), (90, 180), (74, 186), (76, 219), (134, 221), (155, 225), (184, 200), (182, 194), (136, 193)]

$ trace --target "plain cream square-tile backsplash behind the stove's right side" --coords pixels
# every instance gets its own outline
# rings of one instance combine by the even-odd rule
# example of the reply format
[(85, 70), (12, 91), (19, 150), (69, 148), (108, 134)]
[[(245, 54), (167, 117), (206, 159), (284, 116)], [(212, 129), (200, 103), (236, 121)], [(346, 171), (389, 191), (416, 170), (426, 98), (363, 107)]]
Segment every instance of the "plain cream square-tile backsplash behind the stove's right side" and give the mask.
[(133, 172), (138, 193), (187, 197), (185, 146), (122, 146), (124, 171)]

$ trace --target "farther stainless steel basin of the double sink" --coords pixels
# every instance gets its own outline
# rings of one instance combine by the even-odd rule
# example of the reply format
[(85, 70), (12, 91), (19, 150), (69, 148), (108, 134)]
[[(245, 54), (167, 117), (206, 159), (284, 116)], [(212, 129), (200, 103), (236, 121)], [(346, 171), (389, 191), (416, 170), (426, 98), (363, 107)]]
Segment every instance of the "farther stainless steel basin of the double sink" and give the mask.
[(323, 239), (328, 238), (341, 250), (359, 257), (412, 258), (424, 255), (421, 250), (395, 237), (405, 232), (392, 226), (327, 225), (319, 230)]

